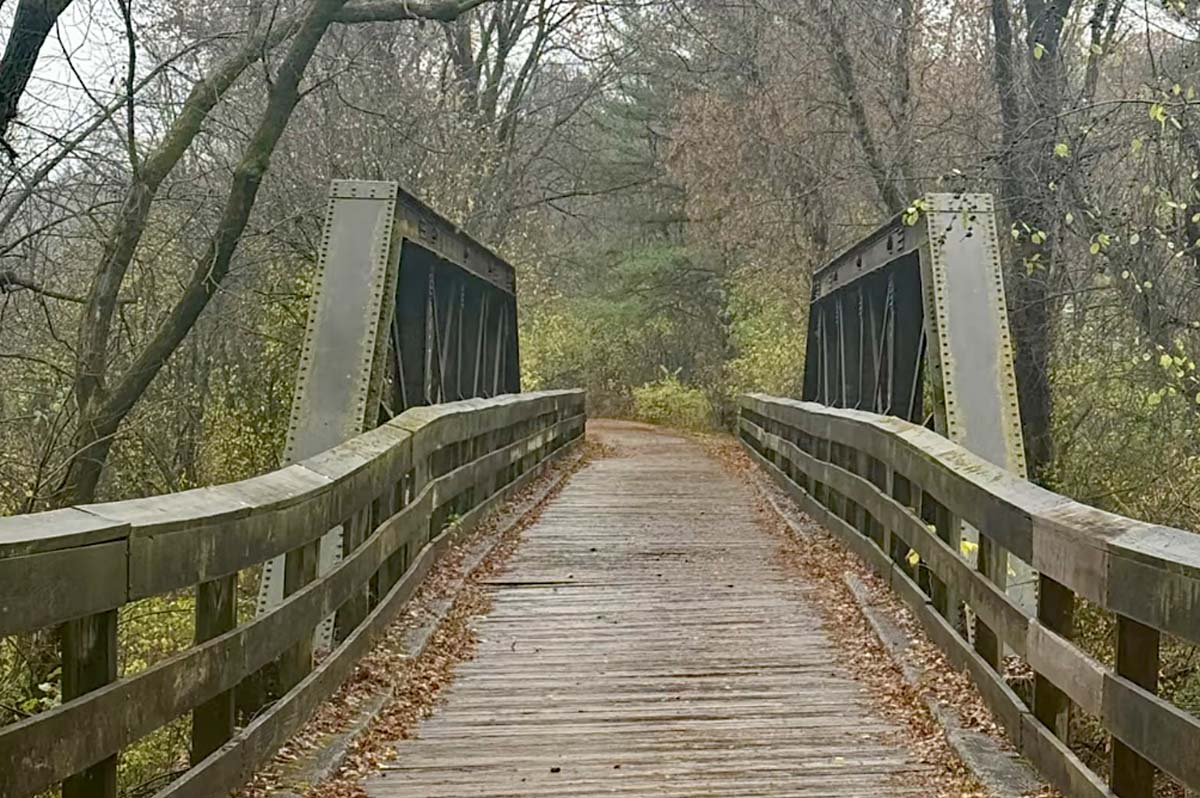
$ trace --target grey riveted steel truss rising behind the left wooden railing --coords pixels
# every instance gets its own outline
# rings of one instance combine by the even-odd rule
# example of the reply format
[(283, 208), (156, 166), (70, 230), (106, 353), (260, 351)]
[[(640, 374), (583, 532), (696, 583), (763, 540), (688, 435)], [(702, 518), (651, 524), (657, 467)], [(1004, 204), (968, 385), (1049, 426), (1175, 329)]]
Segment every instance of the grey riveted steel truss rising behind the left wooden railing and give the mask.
[[(410, 407), (517, 392), (511, 265), (394, 181), (329, 192), (284, 461), (318, 454)], [(322, 540), (319, 572), (342, 558)], [(284, 558), (264, 566), (258, 611), (283, 599)], [(316, 646), (331, 642), (332, 619)]]

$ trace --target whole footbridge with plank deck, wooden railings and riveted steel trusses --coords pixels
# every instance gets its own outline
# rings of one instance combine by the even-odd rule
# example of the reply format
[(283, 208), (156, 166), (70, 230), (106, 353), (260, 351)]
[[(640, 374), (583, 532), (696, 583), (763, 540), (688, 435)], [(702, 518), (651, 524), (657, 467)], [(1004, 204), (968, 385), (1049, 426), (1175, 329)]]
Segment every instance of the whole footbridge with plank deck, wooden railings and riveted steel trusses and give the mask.
[[(1200, 538), (1026, 481), (986, 197), (816, 274), (805, 396), (740, 397), (738, 451), (517, 392), (511, 266), (395, 184), (335, 184), (320, 270), (286, 467), (0, 518), (0, 635), (56, 634), (62, 695), (0, 727), (0, 796), (114, 798), (164, 730), (156, 798), (931, 794), (827, 607), (859, 569), (995, 719), (955, 748), (984, 792), (1200, 791), (1200, 718), (1159, 695)], [(796, 566), (827, 544), (832, 578)], [(121, 672), (120, 610), (164, 595), (193, 644)]]

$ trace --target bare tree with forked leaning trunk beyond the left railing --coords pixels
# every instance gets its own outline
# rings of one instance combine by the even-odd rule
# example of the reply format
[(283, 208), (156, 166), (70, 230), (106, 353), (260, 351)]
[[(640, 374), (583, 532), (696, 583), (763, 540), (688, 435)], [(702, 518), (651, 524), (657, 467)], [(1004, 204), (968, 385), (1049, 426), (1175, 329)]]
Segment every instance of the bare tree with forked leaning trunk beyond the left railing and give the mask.
[[(73, 437), (74, 454), (65, 470), (60, 500), (86, 503), (95, 499), (100, 476), (121, 422), (192, 329), (228, 274), (271, 154), (300, 101), (300, 83), (305, 71), (330, 25), (413, 19), (450, 22), (484, 1), (409, 4), (396, 0), (347, 4), (313, 0), (304, 11), (283, 19), (275, 19), (265, 13), (265, 7), (256, 6), (247, 20), (248, 32), (242, 37), (241, 44), (208, 68), (193, 84), (167, 133), (145, 157), (139, 157), (133, 145), (131, 124), (132, 180), (92, 275), (79, 322), (73, 391), (78, 422)], [(24, 35), (24, 31), (14, 28), (10, 35), (10, 47)], [(270, 80), (266, 107), (234, 170), (224, 208), (204, 254), (197, 260), (174, 307), (158, 324), (157, 332), (132, 358), (124, 373), (112, 373), (109, 348), (114, 332), (113, 319), (119, 306), (118, 295), (146, 230), (160, 187), (188, 154), (223, 94), (252, 64), (284, 43), (287, 50)], [(18, 48), (18, 52), (25, 50)], [(24, 80), (28, 80), (28, 74)], [(128, 83), (132, 86), (132, 71)], [(132, 120), (132, 94), (125, 98), (124, 104)]]

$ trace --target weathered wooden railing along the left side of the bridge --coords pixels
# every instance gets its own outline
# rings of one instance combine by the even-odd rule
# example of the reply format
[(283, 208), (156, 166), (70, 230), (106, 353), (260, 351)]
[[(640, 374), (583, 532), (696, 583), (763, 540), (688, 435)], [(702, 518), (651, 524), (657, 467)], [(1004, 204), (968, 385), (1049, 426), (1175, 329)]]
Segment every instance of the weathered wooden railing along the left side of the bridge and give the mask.
[[(532, 479), (584, 425), (581, 391), (415, 408), (256, 479), (148, 499), (0, 518), (0, 635), (61, 624), (64, 702), (0, 728), (0, 796), (64, 782), (116, 791), (116, 756), (192, 714), (192, 767), (158, 798), (227, 794), (353, 672), (445, 544)], [(344, 559), (317, 576), (317, 546)], [(236, 623), (238, 572), (287, 554), (286, 598)], [(196, 589), (196, 642), (118, 678), (118, 607)], [(313, 629), (336, 643), (312, 666)], [(234, 691), (270, 674), (242, 728)]]

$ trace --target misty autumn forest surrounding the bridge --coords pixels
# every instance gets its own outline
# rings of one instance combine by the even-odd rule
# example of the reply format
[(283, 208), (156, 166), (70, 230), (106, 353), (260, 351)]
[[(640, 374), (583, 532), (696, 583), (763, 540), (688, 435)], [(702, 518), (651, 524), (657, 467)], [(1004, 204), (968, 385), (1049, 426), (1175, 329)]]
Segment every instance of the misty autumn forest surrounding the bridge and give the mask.
[[(1200, 4), (6, 0), (0, 35), (0, 515), (276, 468), (358, 178), (515, 264), (524, 390), (691, 430), (799, 395), (815, 268), (990, 192), (1033, 478), (1200, 528)], [(122, 670), (188, 601), (128, 607)], [(55, 650), (0, 638), (0, 725)], [(1200, 707), (1194, 649), (1162, 678)]]

